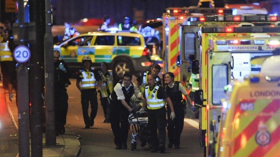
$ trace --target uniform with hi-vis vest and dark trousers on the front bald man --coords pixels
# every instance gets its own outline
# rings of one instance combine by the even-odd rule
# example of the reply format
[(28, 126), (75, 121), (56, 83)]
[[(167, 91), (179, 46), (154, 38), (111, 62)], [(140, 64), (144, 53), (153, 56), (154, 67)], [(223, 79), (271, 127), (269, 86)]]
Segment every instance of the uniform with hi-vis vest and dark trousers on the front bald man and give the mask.
[[(147, 101), (148, 109), (148, 128), (151, 132), (151, 144), (153, 149), (158, 149), (159, 144), (165, 147), (166, 136), (166, 108), (165, 101), (167, 95), (162, 86), (155, 85), (154, 87), (146, 86), (144, 98)], [(159, 132), (159, 139), (157, 134)]]

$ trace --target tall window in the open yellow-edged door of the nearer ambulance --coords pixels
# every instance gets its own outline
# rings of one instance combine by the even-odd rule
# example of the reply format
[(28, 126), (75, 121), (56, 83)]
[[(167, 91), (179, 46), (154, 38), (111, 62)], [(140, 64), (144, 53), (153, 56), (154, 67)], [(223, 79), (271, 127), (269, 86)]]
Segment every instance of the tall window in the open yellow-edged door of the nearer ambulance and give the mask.
[(212, 103), (221, 105), (225, 98), (224, 87), (228, 85), (228, 65), (213, 65), (212, 67)]

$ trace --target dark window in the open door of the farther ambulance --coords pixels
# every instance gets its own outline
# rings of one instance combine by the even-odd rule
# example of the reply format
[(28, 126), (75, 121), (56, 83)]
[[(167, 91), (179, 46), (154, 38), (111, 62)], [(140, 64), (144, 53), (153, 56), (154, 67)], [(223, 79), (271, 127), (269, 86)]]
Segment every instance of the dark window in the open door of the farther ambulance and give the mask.
[(190, 54), (195, 55), (195, 33), (185, 33), (184, 41), (184, 58), (188, 60)]

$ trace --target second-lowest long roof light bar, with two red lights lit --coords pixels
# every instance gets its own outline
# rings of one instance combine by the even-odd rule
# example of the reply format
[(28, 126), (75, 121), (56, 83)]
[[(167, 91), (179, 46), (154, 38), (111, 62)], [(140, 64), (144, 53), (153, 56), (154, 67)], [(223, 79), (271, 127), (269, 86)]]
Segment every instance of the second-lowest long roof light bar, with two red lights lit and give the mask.
[(226, 22), (233, 22), (233, 21), (245, 21), (245, 22), (265, 22), (265, 21), (279, 21), (280, 15), (210, 15), (205, 17), (205, 21), (226, 21)]

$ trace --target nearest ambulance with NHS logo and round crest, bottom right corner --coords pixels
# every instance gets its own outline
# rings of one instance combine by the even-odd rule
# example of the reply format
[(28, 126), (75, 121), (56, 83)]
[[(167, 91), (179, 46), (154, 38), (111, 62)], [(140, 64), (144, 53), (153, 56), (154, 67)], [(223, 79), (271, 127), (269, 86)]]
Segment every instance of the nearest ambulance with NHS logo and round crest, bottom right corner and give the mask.
[(279, 156), (279, 65), (278, 49), (278, 55), (265, 59), (260, 74), (225, 86), (216, 156)]

